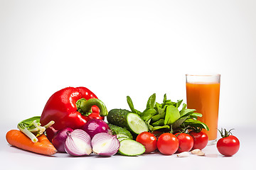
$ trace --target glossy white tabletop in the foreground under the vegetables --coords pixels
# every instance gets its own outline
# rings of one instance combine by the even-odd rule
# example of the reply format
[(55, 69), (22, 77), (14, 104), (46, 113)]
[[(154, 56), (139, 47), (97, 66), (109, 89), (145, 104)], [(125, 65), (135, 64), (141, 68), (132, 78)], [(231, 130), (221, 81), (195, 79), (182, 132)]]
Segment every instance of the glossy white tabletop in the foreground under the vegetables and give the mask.
[(1, 128), (0, 160), (3, 169), (253, 169), (256, 137), (252, 130), (255, 128), (235, 127), (233, 135), (240, 140), (240, 150), (233, 157), (223, 157), (215, 145), (210, 145), (203, 149), (205, 157), (191, 154), (184, 158), (178, 158), (176, 154), (166, 156), (159, 153), (138, 157), (70, 157), (68, 154), (57, 153), (47, 157), (11, 147), (4, 139), (8, 128)]

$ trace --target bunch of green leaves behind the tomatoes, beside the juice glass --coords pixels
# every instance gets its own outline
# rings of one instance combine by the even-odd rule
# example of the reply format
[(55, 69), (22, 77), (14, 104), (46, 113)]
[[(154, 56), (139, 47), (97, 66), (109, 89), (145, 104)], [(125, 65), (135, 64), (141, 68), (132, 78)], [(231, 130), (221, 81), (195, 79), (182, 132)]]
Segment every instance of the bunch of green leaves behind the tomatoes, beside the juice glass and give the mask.
[(201, 113), (196, 113), (195, 109), (186, 108), (186, 103), (183, 103), (181, 110), (178, 111), (183, 100), (171, 101), (167, 99), (166, 94), (164, 94), (163, 103), (157, 103), (156, 94), (152, 94), (143, 112), (137, 111), (134, 108), (132, 99), (129, 96), (127, 96), (127, 102), (132, 112), (140, 115), (151, 131), (166, 130), (172, 132), (173, 130), (192, 128), (209, 130), (205, 123), (197, 120), (198, 117), (202, 116)]

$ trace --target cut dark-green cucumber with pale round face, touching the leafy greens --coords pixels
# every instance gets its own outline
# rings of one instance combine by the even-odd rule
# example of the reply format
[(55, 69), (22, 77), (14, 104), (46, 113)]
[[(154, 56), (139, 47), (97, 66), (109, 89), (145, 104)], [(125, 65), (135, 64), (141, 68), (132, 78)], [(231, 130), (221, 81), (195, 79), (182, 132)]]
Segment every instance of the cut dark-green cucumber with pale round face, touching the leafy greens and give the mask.
[(136, 113), (125, 109), (112, 109), (107, 115), (107, 122), (113, 125), (127, 128), (134, 134), (149, 131), (146, 123)]

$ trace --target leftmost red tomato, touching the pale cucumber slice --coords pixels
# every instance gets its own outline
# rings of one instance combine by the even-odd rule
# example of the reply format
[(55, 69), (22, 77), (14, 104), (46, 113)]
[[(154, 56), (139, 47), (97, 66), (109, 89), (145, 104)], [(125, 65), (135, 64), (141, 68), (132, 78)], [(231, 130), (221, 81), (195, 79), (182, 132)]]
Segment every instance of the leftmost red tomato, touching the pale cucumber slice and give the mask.
[(140, 133), (136, 141), (144, 145), (146, 148), (145, 153), (154, 152), (156, 150), (156, 137), (151, 132)]

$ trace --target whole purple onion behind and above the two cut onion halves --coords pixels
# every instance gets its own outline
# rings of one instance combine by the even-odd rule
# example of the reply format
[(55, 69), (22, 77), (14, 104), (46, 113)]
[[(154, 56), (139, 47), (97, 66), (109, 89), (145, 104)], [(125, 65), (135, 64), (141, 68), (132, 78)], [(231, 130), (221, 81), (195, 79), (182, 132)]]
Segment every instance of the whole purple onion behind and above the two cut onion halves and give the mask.
[(92, 119), (85, 123), (85, 125), (83, 125), (82, 130), (85, 130), (85, 132), (87, 132), (92, 138), (97, 133), (109, 132), (110, 127), (107, 125), (107, 123), (105, 123), (104, 120)]

